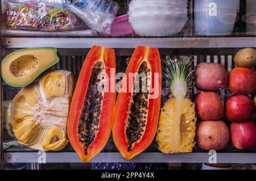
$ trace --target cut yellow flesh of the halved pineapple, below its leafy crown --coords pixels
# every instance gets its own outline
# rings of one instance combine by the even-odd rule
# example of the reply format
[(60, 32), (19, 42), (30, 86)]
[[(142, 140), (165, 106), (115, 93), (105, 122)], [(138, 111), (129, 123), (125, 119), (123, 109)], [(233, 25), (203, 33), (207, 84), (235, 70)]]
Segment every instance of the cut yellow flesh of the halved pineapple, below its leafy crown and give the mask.
[(191, 152), (195, 145), (195, 130), (196, 112), (191, 100), (168, 100), (159, 118), (156, 136), (159, 150), (163, 153)]

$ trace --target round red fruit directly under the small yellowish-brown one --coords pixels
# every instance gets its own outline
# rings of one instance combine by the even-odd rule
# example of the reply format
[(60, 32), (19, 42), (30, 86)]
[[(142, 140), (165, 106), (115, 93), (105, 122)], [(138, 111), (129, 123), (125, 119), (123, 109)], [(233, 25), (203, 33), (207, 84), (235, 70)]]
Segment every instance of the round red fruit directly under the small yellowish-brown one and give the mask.
[(256, 71), (248, 68), (234, 68), (229, 73), (229, 92), (234, 95), (256, 93)]

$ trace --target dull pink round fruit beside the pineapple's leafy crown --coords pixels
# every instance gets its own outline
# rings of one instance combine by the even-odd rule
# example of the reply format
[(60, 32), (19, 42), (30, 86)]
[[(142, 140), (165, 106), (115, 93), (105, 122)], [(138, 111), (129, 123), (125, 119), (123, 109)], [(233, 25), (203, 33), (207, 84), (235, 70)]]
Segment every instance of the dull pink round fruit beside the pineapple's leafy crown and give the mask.
[(221, 64), (202, 62), (197, 65), (195, 86), (206, 91), (223, 90), (228, 82), (228, 73)]

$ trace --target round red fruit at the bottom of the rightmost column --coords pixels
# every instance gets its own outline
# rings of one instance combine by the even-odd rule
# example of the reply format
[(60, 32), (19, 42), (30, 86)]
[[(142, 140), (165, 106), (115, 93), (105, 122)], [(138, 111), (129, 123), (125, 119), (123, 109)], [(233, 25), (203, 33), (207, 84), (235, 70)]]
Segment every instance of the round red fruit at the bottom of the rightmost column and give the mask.
[(256, 123), (254, 120), (231, 123), (230, 137), (234, 148), (246, 149), (256, 146)]

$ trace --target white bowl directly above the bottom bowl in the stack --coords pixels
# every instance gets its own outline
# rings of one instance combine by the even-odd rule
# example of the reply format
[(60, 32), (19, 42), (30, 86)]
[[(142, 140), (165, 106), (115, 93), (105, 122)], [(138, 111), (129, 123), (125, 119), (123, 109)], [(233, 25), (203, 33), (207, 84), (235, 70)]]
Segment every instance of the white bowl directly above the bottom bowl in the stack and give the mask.
[(128, 11), (129, 15), (138, 15), (138, 14), (150, 14), (150, 13), (174, 13), (180, 15), (187, 15), (187, 8), (173, 8), (173, 7), (162, 7), (162, 6), (144, 6), (138, 7), (135, 9), (130, 9)]

